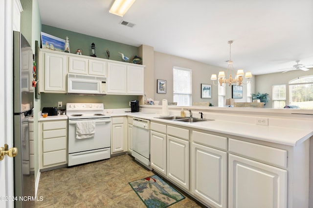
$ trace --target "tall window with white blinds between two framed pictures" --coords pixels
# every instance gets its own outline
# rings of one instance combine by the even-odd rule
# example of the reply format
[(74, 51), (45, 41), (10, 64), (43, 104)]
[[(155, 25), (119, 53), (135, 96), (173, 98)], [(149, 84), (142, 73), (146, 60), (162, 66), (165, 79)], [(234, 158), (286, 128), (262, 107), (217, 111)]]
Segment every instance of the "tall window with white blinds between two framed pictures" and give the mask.
[(173, 102), (177, 105), (192, 104), (192, 71), (180, 67), (173, 68)]

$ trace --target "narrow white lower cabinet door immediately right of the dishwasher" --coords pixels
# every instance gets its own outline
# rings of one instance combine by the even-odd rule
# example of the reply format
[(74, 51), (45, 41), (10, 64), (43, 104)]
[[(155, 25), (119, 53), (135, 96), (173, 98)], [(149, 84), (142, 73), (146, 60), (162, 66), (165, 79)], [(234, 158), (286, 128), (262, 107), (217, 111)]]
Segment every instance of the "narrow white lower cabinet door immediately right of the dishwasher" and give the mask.
[(150, 132), (150, 165), (166, 175), (166, 134)]

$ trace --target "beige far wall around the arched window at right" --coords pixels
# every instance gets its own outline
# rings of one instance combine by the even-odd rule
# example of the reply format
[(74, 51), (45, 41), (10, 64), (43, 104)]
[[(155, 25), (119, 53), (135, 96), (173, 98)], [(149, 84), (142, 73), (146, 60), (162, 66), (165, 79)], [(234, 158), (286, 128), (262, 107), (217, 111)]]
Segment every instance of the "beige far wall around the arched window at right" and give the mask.
[(266, 104), (266, 108), (272, 108), (272, 86), (275, 84), (286, 84), (287, 100), (286, 105), (289, 104), (289, 89), (288, 83), (290, 80), (301, 76), (313, 76), (313, 69), (309, 71), (294, 70), (286, 73), (273, 73), (267, 75), (258, 75), (255, 77), (255, 93), (268, 93), (270, 100)]

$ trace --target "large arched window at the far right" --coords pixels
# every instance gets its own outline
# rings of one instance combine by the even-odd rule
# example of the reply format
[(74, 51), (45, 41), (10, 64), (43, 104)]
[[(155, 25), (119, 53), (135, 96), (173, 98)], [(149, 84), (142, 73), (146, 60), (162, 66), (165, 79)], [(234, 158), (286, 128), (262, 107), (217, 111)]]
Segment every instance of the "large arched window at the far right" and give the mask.
[(290, 105), (313, 109), (313, 76), (303, 76), (289, 81)]

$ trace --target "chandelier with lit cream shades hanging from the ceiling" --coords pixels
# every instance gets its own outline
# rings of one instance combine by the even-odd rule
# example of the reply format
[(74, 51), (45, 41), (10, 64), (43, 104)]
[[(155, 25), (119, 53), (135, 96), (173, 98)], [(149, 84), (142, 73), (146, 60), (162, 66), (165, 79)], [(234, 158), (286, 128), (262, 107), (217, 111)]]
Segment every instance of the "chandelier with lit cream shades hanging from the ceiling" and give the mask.
[[(211, 76), (211, 80), (213, 80), (213, 84), (214, 85), (219, 85), (220, 86), (224, 86), (226, 83), (229, 83), (229, 86), (231, 85), (231, 83), (236, 83), (236, 85), (242, 85), (243, 84), (243, 76), (245, 75), (244, 73), (244, 70), (242, 69), (238, 69), (237, 71), (237, 75), (235, 76), (235, 78), (233, 78), (233, 76), (231, 75), (232, 71), (235, 71), (234, 70), (234, 66), (233, 66), (233, 61), (231, 60), (231, 44), (233, 43), (234, 41), (233, 40), (229, 40), (227, 43), (229, 44), (229, 60), (227, 61), (228, 63), (228, 66), (227, 66), (227, 69), (226, 69), (226, 75), (229, 71), (229, 79), (226, 79), (225, 77), (225, 72), (224, 71), (220, 71), (219, 72), (219, 83), (218, 84), (215, 84), (214, 81), (217, 80), (217, 76), (216, 74), (213, 74)], [(246, 76), (245, 76), (248, 81), (247, 83), (249, 83), (249, 79), (252, 77), (252, 74), (251, 72), (247, 72), (246, 73)], [(244, 83), (244, 84), (247, 84), (247, 83)]]

